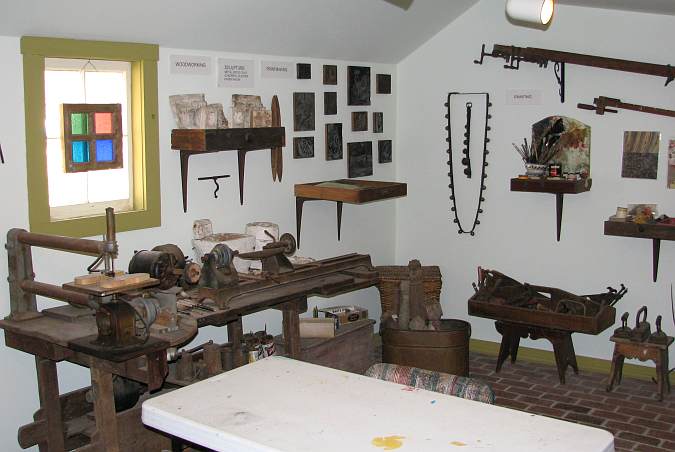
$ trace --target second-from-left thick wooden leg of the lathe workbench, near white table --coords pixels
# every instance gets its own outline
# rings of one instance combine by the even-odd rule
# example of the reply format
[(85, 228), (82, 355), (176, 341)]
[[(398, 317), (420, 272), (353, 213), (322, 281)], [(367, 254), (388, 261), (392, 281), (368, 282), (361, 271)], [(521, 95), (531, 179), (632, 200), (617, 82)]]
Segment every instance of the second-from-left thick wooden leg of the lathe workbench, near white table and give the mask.
[(95, 436), (103, 450), (119, 452), (112, 374), (96, 367), (90, 370), (91, 390), (94, 394), (94, 416), (96, 417)]

